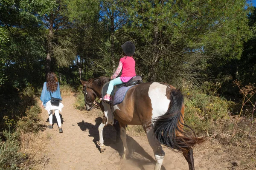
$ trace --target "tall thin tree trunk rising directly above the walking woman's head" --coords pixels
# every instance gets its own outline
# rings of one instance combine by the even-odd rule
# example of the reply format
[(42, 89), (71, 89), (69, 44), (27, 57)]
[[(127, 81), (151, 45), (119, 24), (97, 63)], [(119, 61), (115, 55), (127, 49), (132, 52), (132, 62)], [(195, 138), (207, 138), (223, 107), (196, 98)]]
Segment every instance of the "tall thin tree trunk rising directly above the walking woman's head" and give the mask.
[(49, 34), (47, 36), (47, 57), (46, 57), (46, 76), (51, 71), (52, 39), (53, 39), (53, 14), (49, 16)]

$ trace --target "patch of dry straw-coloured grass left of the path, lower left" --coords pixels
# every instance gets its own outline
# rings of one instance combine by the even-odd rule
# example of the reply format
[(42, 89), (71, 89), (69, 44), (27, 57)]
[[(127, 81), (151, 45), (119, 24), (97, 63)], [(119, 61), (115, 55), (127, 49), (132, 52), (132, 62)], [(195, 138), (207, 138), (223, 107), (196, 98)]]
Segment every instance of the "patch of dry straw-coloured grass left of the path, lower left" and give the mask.
[(20, 134), (21, 151), (29, 156), (27, 161), (21, 165), (22, 169), (35, 169), (47, 164), (48, 159), (44, 157), (44, 153), (47, 150), (49, 139), (49, 134), (44, 132)]

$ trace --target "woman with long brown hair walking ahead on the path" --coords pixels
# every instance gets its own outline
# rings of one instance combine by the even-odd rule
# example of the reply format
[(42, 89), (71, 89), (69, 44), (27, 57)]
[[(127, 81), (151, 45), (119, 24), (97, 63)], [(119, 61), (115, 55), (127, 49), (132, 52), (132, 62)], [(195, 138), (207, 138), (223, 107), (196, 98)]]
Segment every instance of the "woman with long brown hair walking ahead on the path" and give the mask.
[[(50, 94), (51, 93), (51, 94)], [(62, 127), (61, 127), (61, 117), (59, 114), (59, 111), (64, 107), (64, 105), (60, 102), (59, 106), (54, 106), (51, 104), (51, 96), (54, 98), (61, 99), (61, 92), (60, 92), (60, 85), (58, 83), (58, 79), (56, 75), (53, 72), (49, 72), (47, 74), (46, 82), (44, 82), (44, 87), (41, 93), (41, 101), (42, 101), (42, 108), (48, 111), (49, 114), (49, 123), (48, 126), (49, 129), (52, 129), (52, 111), (54, 111), (54, 114), (56, 116), (58, 127), (59, 127), (59, 133), (63, 133)], [(62, 100), (62, 99), (61, 99)]]

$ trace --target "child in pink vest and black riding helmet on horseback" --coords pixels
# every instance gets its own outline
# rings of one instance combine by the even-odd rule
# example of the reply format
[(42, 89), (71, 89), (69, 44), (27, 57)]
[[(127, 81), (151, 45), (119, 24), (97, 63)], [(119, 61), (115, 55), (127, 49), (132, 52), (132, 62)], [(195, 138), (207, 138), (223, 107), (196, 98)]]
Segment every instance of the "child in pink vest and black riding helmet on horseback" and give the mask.
[[(113, 91), (113, 87), (115, 85), (120, 85), (122, 83), (128, 82), (132, 77), (136, 76), (135, 61), (133, 58), (135, 52), (134, 43), (132, 43), (131, 41), (127, 41), (123, 45), (121, 45), (121, 47), (124, 52), (124, 57), (120, 59), (116, 72), (113, 74), (113, 76), (111, 76), (111, 81), (108, 86), (107, 94), (103, 97), (103, 100), (107, 102), (110, 101), (110, 94)], [(121, 70), (121, 77), (117, 77)]]

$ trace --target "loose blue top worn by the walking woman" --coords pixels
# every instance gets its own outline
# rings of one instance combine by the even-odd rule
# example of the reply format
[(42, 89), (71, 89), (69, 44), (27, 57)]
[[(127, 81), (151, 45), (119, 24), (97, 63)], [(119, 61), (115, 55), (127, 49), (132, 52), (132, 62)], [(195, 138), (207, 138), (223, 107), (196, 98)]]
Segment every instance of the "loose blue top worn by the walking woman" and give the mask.
[[(57, 90), (55, 92), (51, 92), (52, 97), (61, 99), (60, 85), (58, 83)], [(40, 100), (43, 102), (44, 107), (46, 107), (46, 103), (51, 100), (50, 91), (47, 90), (46, 82), (44, 82), (44, 87), (41, 93)]]

